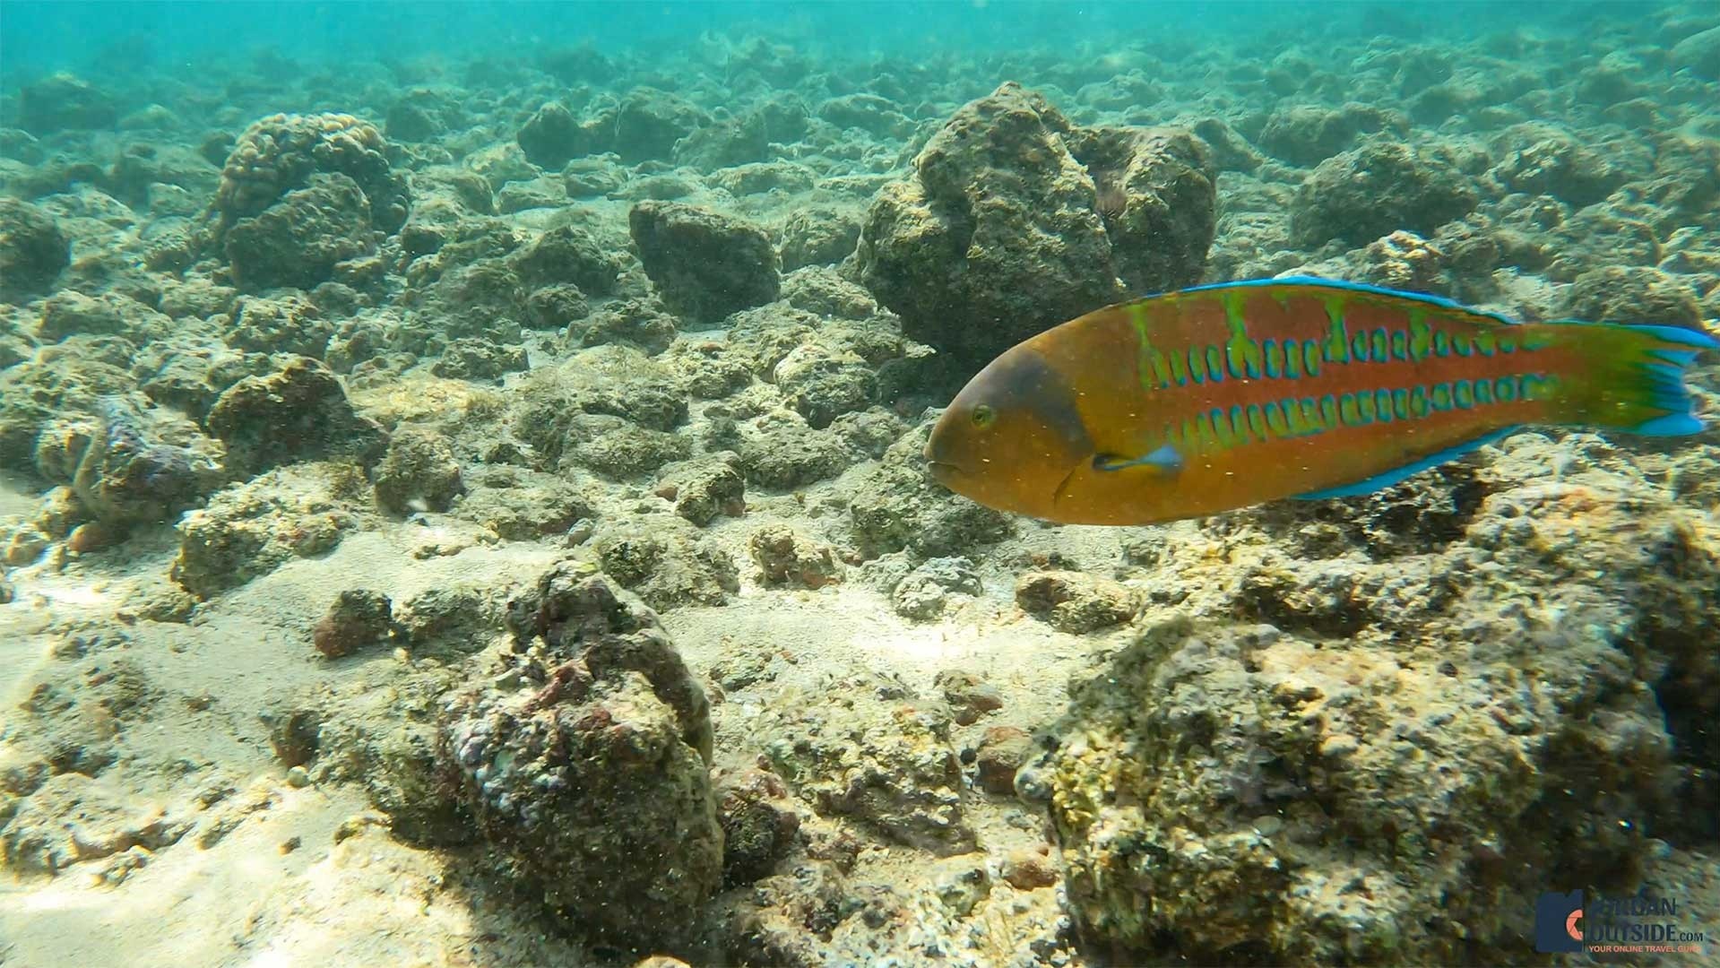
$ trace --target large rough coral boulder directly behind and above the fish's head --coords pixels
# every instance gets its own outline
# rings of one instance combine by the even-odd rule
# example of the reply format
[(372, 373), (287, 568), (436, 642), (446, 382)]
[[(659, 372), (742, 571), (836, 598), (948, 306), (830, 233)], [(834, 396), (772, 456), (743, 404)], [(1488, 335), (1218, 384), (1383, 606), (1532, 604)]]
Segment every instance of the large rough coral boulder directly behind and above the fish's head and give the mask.
[(1130, 292), (1199, 282), (1213, 242), (1199, 138), (1078, 129), (1013, 83), (958, 110), (913, 168), (867, 213), (862, 280), (968, 370)]

